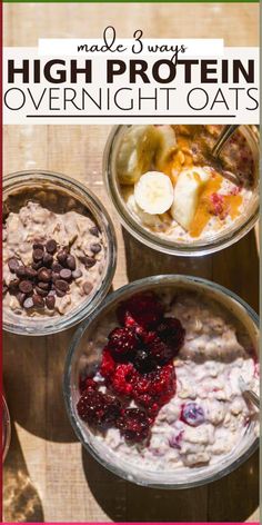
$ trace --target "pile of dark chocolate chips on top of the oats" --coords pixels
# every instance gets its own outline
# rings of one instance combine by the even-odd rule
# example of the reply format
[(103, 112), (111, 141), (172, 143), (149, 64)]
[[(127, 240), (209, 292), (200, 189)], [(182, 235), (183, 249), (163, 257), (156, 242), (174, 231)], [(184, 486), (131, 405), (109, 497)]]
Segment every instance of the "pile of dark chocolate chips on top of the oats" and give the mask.
[[(9, 285), (3, 283), (3, 293), (14, 295), (27, 310), (44, 307), (53, 310), (56, 298), (66, 296), (72, 281), (82, 277), (70, 248), (58, 247), (54, 239), (46, 244), (33, 242), (30, 265), (24, 266), (17, 257), (11, 257), (8, 267), (14, 278)], [(83, 284), (85, 294), (90, 294), (91, 289), (90, 283)]]

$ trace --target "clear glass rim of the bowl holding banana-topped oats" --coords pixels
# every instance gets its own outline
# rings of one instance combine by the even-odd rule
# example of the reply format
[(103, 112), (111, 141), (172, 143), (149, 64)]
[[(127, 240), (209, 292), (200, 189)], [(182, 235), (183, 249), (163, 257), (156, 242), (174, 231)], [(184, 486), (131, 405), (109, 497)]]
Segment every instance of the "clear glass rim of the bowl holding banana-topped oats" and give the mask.
[[(103, 153), (103, 178), (107, 186), (108, 194), (113, 202), (113, 206), (119, 215), (120, 221), (124, 226), (124, 228), (131, 234), (135, 239), (140, 242), (147, 245), (148, 247), (157, 250), (162, 251), (168, 255), (181, 256), (181, 257), (201, 257), (209, 254), (214, 254), (220, 251), (224, 248), (228, 248), (232, 244), (240, 240), (244, 235), (246, 235), (255, 225), (259, 218), (259, 197), (255, 201), (255, 207), (253, 212), (235, 229), (231, 229), (225, 232), (221, 237), (216, 237), (214, 239), (210, 238), (209, 240), (204, 241), (196, 241), (194, 244), (179, 244), (162, 237), (158, 237), (155, 234), (150, 232), (142, 225), (137, 221), (131, 212), (128, 211), (127, 206), (123, 205), (122, 198), (119, 196), (119, 191), (117, 188), (115, 177), (112, 172), (112, 164), (115, 161), (113, 158), (115, 156), (114, 147), (119, 147), (119, 141), (121, 135), (123, 133), (124, 129), (128, 128), (128, 125), (118, 125), (113, 126)], [(255, 155), (259, 159), (259, 147), (255, 141), (255, 137), (253, 131), (250, 129), (248, 125), (242, 125), (242, 129), (249, 139), (252, 140), (253, 147), (255, 149)], [(256, 167), (258, 168), (258, 167)], [(256, 169), (255, 168), (255, 169)], [(259, 168), (258, 168), (259, 169)], [(256, 169), (256, 171), (258, 171)], [(259, 176), (258, 176), (258, 184), (259, 184)]]

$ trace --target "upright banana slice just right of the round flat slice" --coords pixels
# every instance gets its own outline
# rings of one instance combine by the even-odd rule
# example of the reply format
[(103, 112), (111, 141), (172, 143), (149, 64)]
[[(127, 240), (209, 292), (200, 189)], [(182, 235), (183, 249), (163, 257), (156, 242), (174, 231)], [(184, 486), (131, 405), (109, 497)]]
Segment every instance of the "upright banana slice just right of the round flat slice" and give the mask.
[(171, 215), (185, 230), (190, 229), (200, 194), (210, 177), (209, 168), (190, 168), (179, 175)]

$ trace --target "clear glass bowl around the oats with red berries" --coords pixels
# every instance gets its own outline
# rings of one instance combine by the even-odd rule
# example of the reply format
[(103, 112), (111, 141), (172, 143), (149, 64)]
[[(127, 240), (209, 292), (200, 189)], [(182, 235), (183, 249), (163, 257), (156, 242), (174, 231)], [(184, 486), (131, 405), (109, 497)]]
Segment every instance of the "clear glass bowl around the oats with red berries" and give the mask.
[(149, 289), (157, 291), (160, 291), (160, 289), (178, 290), (179, 288), (202, 291), (204, 295), (222, 304), (230, 313), (233, 311), (236, 318), (240, 319), (246, 328), (252, 341), (254, 341), (255, 348), (258, 347), (258, 315), (232, 291), (220, 285), (196, 277), (161, 275), (131, 283), (111, 294), (103, 301), (103, 305), (101, 305), (77, 330), (69, 348), (64, 370), (64, 399), (69, 418), (77, 436), (88, 452), (105, 468), (120, 477), (139, 485), (159, 488), (187, 488), (219, 479), (245, 462), (255, 450), (259, 442), (250, 427), (245, 437), (240, 439), (238, 447), (232, 449), (221, 463), (188, 470), (184, 468), (174, 468), (172, 472), (164, 470), (152, 473), (148, 472), (143, 465), (141, 465), (141, 467), (139, 465), (134, 466), (124, 459), (119, 459), (118, 452), (107, 449), (78, 416), (75, 406), (80, 397), (80, 370), (87, 361), (90, 367), (95, 366), (99, 361), (102, 351), (102, 341), (101, 348), (98, 348), (98, 345), (94, 346), (92, 343), (94, 334), (98, 331), (100, 335), (107, 335), (109, 331), (108, 324), (110, 325), (111, 323), (112, 328), (115, 326), (114, 313), (119, 303), (128, 299), (138, 291)]

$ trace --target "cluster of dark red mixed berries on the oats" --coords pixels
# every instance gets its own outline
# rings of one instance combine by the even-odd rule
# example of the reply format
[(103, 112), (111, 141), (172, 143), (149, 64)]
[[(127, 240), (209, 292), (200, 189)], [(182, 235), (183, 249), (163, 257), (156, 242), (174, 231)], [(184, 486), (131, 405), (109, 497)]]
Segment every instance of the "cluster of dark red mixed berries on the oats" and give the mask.
[(117, 427), (127, 442), (140, 443), (175, 394), (173, 358), (185, 331), (179, 319), (164, 317), (159, 298), (148, 291), (122, 303), (118, 319), (121, 327), (109, 334), (98, 369), (107, 394), (92, 378), (81, 378), (78, 413), (93, 427)]

